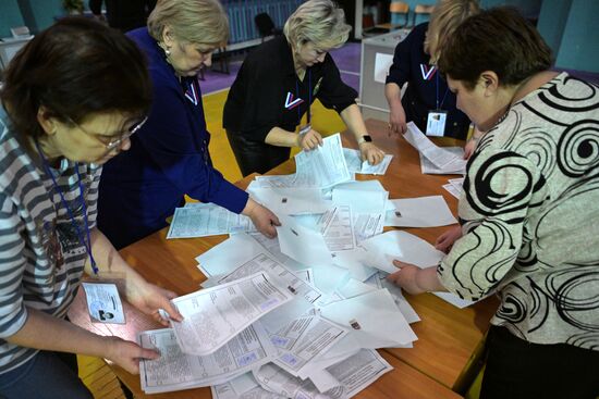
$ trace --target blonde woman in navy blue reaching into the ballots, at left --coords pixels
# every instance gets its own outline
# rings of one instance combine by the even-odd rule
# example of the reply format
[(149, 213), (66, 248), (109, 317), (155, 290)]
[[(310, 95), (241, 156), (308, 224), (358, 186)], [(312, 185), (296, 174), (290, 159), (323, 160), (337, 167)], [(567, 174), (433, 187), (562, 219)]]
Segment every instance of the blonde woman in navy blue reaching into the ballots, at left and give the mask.
[(217, 0), (160, 0), (148, 27), (129, 33), (148, 60), (154, 93), (131, 151), (111, 160), (100, 182), (98, 225), (117, 248), (164, 227), (185, 195), (249, 216), (267, 236), (277, 234), (277, 216), (227, 182), (208, 152), (197, 74), (228, 34)]

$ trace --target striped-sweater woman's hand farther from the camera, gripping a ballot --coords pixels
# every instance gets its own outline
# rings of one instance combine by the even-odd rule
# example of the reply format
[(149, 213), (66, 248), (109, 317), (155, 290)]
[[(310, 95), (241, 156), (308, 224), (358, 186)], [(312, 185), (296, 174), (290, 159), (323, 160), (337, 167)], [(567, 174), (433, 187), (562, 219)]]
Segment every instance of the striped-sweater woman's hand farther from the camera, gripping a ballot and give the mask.
[(159, 309), (169, 313), (171, 320), (181, 322), (183, 316), (172, 304), (171, 299), (178, 295), (164, 288), (160, 288), (144, 280), (142, 277), (135, 278), (134, 282), (127, 280), (126, 297), (131, 304), (139, 309), (142, 312), (152, 316), (160, 324), (168, 326), (169, 320), (162, 317)]

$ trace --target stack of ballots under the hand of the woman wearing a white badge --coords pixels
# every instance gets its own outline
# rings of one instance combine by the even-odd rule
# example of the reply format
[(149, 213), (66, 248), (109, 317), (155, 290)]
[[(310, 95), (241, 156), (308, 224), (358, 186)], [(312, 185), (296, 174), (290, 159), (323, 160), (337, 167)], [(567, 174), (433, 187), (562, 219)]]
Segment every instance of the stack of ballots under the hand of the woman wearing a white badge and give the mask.
[(414, 124), (407, 123), (407, 130), (403, 136), (407, 142), (420, 154), (420, 167), (423, 173), (430, 174), (464, 174), (466, 160), (464, 150), (461, 148), (447, 149), (436, 146)]

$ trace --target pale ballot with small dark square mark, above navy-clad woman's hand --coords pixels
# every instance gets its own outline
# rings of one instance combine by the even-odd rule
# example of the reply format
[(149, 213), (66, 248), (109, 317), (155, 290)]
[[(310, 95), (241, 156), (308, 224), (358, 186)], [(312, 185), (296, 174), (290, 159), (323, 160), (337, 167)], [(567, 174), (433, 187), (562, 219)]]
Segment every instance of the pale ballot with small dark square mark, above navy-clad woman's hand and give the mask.
[(248, 188), (250, 197), (278, 215), (323, 213), (332, 208), (319, 188)]

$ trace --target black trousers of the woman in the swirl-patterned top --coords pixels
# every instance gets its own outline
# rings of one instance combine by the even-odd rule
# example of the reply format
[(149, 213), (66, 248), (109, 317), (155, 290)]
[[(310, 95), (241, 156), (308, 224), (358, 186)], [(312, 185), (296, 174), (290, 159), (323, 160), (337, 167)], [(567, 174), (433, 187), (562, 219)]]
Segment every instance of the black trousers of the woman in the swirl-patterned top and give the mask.
[(531, 344), (491, 326), (480, 399), (596, 399), (599, 351)]

